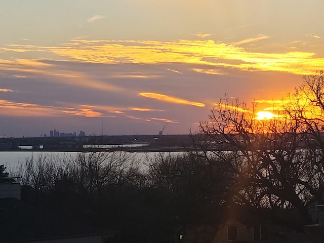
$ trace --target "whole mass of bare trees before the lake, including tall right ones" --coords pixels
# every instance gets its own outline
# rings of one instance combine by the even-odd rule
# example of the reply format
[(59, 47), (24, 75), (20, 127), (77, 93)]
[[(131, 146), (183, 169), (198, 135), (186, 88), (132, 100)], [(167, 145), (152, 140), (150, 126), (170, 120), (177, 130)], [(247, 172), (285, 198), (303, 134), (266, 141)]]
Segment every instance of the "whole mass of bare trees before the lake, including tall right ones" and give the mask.
[(196, 151), (141, 160), (125, 152), (44, 154), (11, 174), (32, 188), (32, 203), (117, 232), (119, 242), (177, 242), (179, 235), (211, 242), (238, 206), (273, 215), (293, 209), (298, 217), (281, 223), (302, 230), (311, 223), (307, 206), (324, 203), (323, 87), (322, 72), (305, 76), (266, 120), (255, 119), (255, 106), (221, 100), (200, 123), (201, 136), (192, 136)]

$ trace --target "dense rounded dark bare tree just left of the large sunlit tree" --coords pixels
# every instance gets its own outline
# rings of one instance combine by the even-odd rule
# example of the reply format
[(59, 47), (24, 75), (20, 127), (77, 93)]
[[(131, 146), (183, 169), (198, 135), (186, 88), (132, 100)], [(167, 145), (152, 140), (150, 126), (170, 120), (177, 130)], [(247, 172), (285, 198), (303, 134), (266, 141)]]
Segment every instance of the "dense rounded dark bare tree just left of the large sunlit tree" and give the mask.
[(199, 229), (196, 242), (209, 242), (224, 212), (232, 173), (221, 160), (191, 153), (159, 153), (149, 159), (151, 186), (159, 192), (165, 226), (185, 238)]

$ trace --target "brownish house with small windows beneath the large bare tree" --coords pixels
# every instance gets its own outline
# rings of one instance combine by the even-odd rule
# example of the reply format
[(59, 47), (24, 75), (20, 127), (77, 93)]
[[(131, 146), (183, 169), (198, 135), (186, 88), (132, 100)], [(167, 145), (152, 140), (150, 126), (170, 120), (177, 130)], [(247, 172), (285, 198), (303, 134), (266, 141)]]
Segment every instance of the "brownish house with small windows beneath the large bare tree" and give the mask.
[(234, 207), (224, 214), (212, 242), (309, 242), (296, 210)]

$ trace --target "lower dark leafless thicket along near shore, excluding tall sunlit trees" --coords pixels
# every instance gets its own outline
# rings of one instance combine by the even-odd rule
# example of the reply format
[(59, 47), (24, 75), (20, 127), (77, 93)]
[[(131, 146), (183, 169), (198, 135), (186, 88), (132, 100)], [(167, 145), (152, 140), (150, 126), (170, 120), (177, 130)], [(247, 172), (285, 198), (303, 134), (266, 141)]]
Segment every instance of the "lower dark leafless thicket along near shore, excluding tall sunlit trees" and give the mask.
[(125, 152), (44, 153), (11, 174), (25, 186), (23, 200), (85, 228), (115, 232), (120, 242), (172, 242), (197, 225), (208, 225), (201, 234), (212, 239), (232, 196), (228, 168), (190, 153), (144, 160)]

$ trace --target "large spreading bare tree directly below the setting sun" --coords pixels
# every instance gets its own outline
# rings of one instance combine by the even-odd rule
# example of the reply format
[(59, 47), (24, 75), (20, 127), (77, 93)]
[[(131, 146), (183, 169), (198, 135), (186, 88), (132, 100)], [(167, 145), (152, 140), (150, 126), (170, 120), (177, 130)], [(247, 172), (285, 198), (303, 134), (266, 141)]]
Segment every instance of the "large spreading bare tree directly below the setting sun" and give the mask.
[[(236, 178), (233, 199), (239, 204), (267, 208), (298, 208), (312, 195), (303, 144), (305, 126), (296, 113), (282, 109), (280, 116), (256, 119), (256, 106), (220, 100), (200, 123), (207, 150), (221, 158)], [(201, 142), (200, 142), (201, 144)], [(201, 154), (201, 153), (200, 153)], [(203, 153), (209, 156), (209, 153)]]

